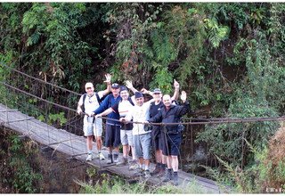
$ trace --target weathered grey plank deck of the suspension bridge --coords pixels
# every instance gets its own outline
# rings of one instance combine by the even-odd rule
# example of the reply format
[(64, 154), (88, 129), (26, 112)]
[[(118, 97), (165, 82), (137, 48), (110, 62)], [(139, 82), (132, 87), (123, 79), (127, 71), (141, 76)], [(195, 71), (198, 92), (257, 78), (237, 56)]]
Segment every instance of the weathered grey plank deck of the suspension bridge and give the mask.
[[(70, 134), (69, 132), (56, 129), (48, 126), (47, 124), (40, 122), (36, 118), (31, 118), (20, 111), (10, 110), (4, 105), (0, 104), (0, 123), (4, 127), (9, 127), (12, 130), (20, 133), (20, 135), (27, 135), (37, 143), (50, 146), (55, 151), (61, 151), (62, 153), (70, 155), (70, 157), (85, 161), (86, 148), (85, 138), (83, 136), (77, 136)], [(95, 146), (95, 145), (94, 145)], [(107, 157), (107, 151), (103, 150), (102, 153)], [(119, 155), (121, 159), (122, 154)], [(94, 167), (103, 168), (108, 170), (110, 173), (117, 174), (119, 176), (125, 176), (126, 178), (132, 179), (134, 171), (130, 171), (127, 166), (117, 167), (109, 166), (106, 164), (106, 160), (93, 159), (92, 161), (85, 161), (86, 164), (90, 164)], [(153, 169), (154, 164), (151, 164)], [(223, 192), (216, 182), (207, 178), (194, 176), (189, 173), (185, 173), (181, 170), (179, 174), (179, 187), (184, 189), (187, 185), (195, 185), (200, 192), (204, 193), (221, 193)], [(147, 179), (149, 184), (164, 184), (161, 182), (159, 177), (152, 177)]]

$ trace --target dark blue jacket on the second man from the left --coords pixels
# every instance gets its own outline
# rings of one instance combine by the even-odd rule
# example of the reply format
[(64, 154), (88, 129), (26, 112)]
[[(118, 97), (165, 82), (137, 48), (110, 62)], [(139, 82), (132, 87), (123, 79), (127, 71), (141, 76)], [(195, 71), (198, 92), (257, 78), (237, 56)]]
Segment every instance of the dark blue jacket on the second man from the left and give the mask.
[[(105, 97), (103, 102), (101, 103), (100, 107), (97, 110), (94, 110), (95, 114), (100, 114), (104, 110), (109, 109), (110, 107), (113, 107), (116, 105), (118, 102), (120, 102), (122, 98), (118, 95), (118, 97), (115, 99), (113, 94), (109, 94), (108, 96)], [(119, 114), (115, 113), (112, 111), (110, 114), (108, 114), (107, 118), (113, 118), (113, 119), (119, 119)], [(120, 125), (119, 121), (114, 121), (112, 119), (107, 119), (108, 124), (113, 124), (113, 125)]]

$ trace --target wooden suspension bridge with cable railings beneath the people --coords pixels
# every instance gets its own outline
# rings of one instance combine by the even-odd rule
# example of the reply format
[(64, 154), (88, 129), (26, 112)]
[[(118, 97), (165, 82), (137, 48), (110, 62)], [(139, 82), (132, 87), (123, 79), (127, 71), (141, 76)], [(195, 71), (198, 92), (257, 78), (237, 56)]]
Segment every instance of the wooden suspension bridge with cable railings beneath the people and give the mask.
[[(117, 167), (107, 165), (106, 160), (93, 159), (85, 161), (86, 145), (82, 131), (82, 117), (78, 116), (76, 110), (77, 101), (81, 94), (69, 91), (69, 89), (55, 86), (43, 79), (34, 78), (28, 74), (12, 69), (9, 66), (1, 65), (4, 76), (0, 91), (4, 94), (0, 103), (0, 123), (6, 127), (25, 135), (31, 140), (37, 141), (53, 151), (60, 151), (67, 154), (70, 159), (77, 159), (99, 170), (108, 171), (112, 174), (132, 179), (134, 171), (128, 170), (127, 166)], [(57, 98), (60, 97), (61, 99)], [(14, 99), (12, 99), (14, 98)], [(195, 121), (185, 122), (186, 129), (191, 131), (191, 125), (216, 124), (216, 123), (238, 123), (252, 121), (284, 120), (285, 118), (197, 118)], [(193, 136), (191, 140), (191, 155), (193, 152)], [(94, 144), (94, 146), (96, 146)], [(96, 152), (96, 151), (95, 151)], [(107, 157), (107, 151), (102, 150)], [(122, 154), (119, 155), (119, 159)], [(208, 159), (206, 166), (208, 165)], [(151, 164), (151, 169), (154, 165)], [(141, 179), (142, 180), (142, 179)], [(159, 177), (151, 176), (144, 179), (148, 184), (160, 185)], [(195, 176), (193, 173), (186, 173), (179, 170), (179, 187), (184, 189), (189, 184), (195, 184), (205, 193), (227, 192), (221, 189), (216, 182)]]

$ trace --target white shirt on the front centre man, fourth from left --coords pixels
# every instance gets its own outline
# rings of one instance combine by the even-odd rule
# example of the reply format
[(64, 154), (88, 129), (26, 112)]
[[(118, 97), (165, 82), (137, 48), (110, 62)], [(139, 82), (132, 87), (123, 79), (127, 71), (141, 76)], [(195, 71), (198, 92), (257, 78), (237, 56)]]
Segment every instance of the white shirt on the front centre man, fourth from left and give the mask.
[[(132, 110), (127, 113), (126, 120), (130, 121), (132, 118), (134, 122), (145, 122), (146, 120), (149, 120), (151, 102), (153, 102), (153, 99), (151, 99), (149, 102), (143, 102), (142, 106), (134, 105)], [(143, 135), (151, 133), (151, 131), (144, 131), (143, 127), (143, 124), (134, 123), (133, 135)]]

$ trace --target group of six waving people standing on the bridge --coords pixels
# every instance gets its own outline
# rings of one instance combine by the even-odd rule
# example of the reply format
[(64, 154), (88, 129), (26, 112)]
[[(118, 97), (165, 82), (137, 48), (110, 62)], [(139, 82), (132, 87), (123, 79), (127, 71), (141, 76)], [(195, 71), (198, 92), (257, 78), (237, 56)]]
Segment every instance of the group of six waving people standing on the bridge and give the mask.
[[(163, 95), (159, 88), (152, 92), (142, 88), (138, 91), (131, 81), (126, 86), (110, 84), (107, 74), (104, 91), (94, 92), (92, 83), (85, 84), (85, 92), (80, 97), (77, 113), (84, 113), (84, 135), (87, 144), (87, 161), (94, 159), (93, 138), (97, 145), (97, 158), (102, 154), (102, 116), (107, 116), (105, 146), (108, 148), (107, 164), (129, 165), (136, 169), (135, 175), (151, 177), (164, 176), (163, 182), (173, 181), (178, 185), (178, 155), (182, 142), (183, 127), (178, 125), (182, 116), (190, 110), (186, 93), (181, 94), (182, 105), (176, 104), (179, 83), (174, 82), (175, 93)], [(128, 89), (134, 95), (130, 97)], [(109, 94), (111, 92), (111, 94)], [(100, 100), (107, 95), (102, 102)], [(152, 99), (145, 102), (144, 94)], [(155, 123), (162, 123), (163, 126)], [(123, 158), (118, 160), (118, 148), (123, 146)], [(155, 153), (156, 167), (150, 172), (151, 147)], [(132, 159), (128, 160), (132, 151)]]

